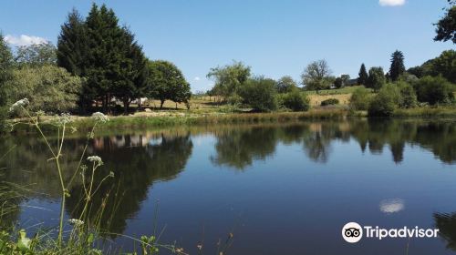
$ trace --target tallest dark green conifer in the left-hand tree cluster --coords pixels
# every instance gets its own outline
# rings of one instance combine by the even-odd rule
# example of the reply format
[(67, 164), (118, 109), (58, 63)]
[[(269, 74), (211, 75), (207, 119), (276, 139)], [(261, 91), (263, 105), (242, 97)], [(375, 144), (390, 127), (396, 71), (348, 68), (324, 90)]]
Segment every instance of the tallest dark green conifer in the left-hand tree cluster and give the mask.
[(86, 20), (88, 31), (87, 86), (88, 93), (101, 100), (103, 111), (109, 111), (118, 82), (120, 64), (124, 61), (124, 33), (112, 9), (93, 4)]

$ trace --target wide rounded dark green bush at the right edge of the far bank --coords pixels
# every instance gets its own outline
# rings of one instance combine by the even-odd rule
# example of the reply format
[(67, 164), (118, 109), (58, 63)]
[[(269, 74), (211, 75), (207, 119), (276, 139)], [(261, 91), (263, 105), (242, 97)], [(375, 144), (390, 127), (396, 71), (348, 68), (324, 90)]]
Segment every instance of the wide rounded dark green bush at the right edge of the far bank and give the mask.
[(454, 85), (442, 76), (425, 76), (414, 85), (420, 102), (449, 104), (454, 99)]

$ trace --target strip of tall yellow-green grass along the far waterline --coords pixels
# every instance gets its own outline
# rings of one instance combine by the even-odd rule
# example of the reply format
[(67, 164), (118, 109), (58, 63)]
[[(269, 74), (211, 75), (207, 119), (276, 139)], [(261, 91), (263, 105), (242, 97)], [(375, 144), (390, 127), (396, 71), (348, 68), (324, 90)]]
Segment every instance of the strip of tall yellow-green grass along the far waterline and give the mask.
[[(271, 113), (198, 113), (194, 111), (167, 111), (161, 114), (138, 114), (131, 116), (110, 117), (108, 123), (99, 131), (119, 128), (163, 128), (172, 126), (230, 125), (254, 123), (287, 123), (318, 119), (343, 119), (345, 117), (367, 117), (366, 111), (350, 111), (347, 108), (320, 107), (306, 112), (271, 112)], [(393, 117), (456, 117), (455, 107), (417, 107), (397, 109)], [(46, 125), (52, 117), (43, 117), (43, 129), (52, 128)], [(16, 120), (17, 121), (17, 120)], [(91, 117), (74, 117), (73, 127), (87, 131), (93, 125)], [(17, 125), (16, 132), (33, 131), (28, 125)]]

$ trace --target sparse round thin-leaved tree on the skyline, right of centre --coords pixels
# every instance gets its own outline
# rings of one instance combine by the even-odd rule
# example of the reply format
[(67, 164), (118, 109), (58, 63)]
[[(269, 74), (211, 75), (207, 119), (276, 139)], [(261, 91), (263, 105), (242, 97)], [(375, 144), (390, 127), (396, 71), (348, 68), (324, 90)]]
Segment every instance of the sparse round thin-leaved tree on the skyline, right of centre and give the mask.
[(306, 66), (301, 75), (302, 83), (307, 90), (319, 90), (329, 87), (331, 84), (331, 69), (325, 59), (317, 60)]

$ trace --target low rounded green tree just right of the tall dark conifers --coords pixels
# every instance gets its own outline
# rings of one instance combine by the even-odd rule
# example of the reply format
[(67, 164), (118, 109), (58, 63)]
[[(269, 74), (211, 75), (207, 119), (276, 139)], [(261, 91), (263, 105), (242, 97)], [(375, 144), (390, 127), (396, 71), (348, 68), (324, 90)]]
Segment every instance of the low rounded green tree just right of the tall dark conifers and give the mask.
[(190, 85), (185, 80), (181, 70), (171, 62), (164, 60), (150, 61), (149, 89), (147, 95), (160, 100), (160, 107), (166, 100), (176, 103), (190, 99)]

